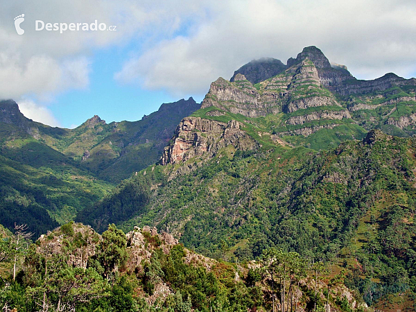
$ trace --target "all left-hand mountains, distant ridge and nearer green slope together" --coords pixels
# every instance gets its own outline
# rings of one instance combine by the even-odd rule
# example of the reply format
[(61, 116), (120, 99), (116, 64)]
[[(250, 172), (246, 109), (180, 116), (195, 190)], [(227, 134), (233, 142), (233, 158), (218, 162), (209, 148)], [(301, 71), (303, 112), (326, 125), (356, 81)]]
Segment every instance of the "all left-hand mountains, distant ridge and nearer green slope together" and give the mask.
[(153, 164), (175, 125), (200, 107), (163, 104), (136, 122), (98, 116), (78, 128), (52, 128), (27, 119), (14, 101), (0, 101), (0, 218), (13, 229), (27, 223), (34, 237), (101, 200), (135, 171)]

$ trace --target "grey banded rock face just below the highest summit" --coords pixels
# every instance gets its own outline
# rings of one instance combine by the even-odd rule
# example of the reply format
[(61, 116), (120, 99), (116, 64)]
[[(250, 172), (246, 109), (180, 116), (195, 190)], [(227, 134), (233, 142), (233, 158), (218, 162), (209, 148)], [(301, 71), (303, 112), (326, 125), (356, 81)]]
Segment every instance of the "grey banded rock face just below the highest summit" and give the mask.
[(211, 106), (242, 114), (250, 118), (295, 112), (318, 106), (338, 106), (335, 98), (322, 89), (318, 69), (311, 60), (305, 59), (282, 74), (260, 83), (259, 91), (241, 73), (236, 74), (234, 83), (218, 78), (211, 87), (202, 108)]

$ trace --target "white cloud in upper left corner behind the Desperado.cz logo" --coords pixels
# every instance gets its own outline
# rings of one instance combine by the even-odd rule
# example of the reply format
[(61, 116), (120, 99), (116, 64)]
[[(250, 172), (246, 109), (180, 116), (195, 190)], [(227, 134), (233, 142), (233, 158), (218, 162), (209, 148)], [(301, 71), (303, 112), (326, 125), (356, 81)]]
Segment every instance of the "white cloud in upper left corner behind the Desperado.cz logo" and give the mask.
[[(25, 94), (53, 98), (67, 89), (89, 85), (94, 52), (107, 46), (128, 44), (135, 36), (171, 33), (181, 25), (171, 3), (160, 6), (150, 0), (21, 0), (3, 1), (0, 10), (0, 98)], [(189, 1), (189, 6), (193, 6)], [(167, 15), (168, 12), (178, 12)], [(25, 14), (17, 35), (13, 19)], [(168, 16), (168, 17), (166, 17)], [(35, 20), (44, 23), (105, 23), (116, 31), (35, 31)], [(153, 27), (157, 24), (157, 27)], [(173, 28), (171, 27), (173, 25)], [(137, 37), (136, 37), (137, 38)]]

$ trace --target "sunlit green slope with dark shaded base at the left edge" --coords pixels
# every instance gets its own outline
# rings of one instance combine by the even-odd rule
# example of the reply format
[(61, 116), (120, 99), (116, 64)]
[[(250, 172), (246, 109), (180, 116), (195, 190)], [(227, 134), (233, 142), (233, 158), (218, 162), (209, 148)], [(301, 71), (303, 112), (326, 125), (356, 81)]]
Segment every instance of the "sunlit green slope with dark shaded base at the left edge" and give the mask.
[(13, 125), (1, 123), (0, 135), (1, 220), (9, 229), (28, 223), (39, 235), (72, 220), (112, 188)]

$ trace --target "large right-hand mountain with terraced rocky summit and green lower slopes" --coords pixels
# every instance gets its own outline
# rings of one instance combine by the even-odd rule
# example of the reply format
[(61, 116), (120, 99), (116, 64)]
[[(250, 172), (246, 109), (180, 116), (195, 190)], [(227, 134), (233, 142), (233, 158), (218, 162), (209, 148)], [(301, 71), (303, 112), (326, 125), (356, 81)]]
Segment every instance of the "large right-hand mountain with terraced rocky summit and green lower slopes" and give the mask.
[(209, 257), (223, 241), (240, 260), (270, 246), (340, 257), (368, 304), (415, 291), (415, 79), (357, 80), (311, 46), (266, 80), (232, 80), (211, 83), (157, 165), (76, 220), (150, 224)]

